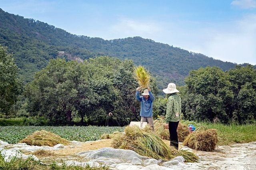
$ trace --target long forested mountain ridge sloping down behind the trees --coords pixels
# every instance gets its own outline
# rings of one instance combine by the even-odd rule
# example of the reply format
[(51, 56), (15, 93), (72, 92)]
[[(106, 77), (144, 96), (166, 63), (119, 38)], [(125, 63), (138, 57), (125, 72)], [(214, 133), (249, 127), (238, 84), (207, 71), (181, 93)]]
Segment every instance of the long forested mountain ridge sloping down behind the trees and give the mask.
[(9, 14), (0, 9), (0, 45), (8, 47), (21, 69), (20, 78), (33, 79), (36, 71), (44, 68), (50, 59), (88, 59), (101, 55), (132, 59), (145, 66), (157, 78), (158, 87), (169, 82), (184, 84), (184, 77), (193, 69), (219, 66), (222, 70), (235, 64), (192, 53), (168, 44), (157, 43), (142, 37), (104, 40), (78, 36), (53, 25)]

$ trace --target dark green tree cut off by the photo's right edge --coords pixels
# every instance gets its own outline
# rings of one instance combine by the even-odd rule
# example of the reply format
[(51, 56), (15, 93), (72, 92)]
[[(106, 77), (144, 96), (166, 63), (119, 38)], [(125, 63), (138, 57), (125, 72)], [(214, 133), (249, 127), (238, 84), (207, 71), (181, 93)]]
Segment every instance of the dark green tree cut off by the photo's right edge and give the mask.
[(256, 119), (256, 68), (236, 66), (227, 72), (232, 84), (234, 102), (232, 119), (243, 123)]

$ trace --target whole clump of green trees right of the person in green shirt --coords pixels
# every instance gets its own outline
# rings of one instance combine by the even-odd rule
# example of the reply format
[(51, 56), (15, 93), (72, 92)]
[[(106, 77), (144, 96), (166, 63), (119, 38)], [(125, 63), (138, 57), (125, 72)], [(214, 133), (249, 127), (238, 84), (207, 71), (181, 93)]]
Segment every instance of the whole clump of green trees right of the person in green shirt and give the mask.
[(190, 120), (240, 123), (256, 119), (256, 69), (236, 66), (227, 72), (218, 67), (190, 71), (182, 89), (182, 112)]

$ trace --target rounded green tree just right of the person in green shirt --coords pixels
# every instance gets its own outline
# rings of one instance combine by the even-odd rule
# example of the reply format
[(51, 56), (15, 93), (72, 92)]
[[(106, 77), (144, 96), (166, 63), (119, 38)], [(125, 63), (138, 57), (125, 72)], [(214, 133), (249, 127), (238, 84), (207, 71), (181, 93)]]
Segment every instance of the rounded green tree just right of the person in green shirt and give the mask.
[(228, 76), (218, 67), (190, 71), (185, 78), (182, 112), (188, 119), (219, 119), (227, 122), (234, 98)]

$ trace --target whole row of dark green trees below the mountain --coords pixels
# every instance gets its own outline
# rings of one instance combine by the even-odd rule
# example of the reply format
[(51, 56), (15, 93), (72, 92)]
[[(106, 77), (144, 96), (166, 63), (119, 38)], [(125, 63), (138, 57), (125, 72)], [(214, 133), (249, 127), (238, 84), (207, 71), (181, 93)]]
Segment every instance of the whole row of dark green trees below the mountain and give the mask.
[[(0, 47), (0, 116), (43, 117), (49, 125), (127, 125), (139, 120), (140, 104), (135, 99), (138, 84), (134, 63), (101, 56), (83, 63), (52, 59), (34, 80), (25, 86), (17, 78), (12, 55)], [(154, 118), (165, 115), (167, 98), (161, 96), (152, 76), (152, 92), (157, 96)], [(185, 85), (178, 86), (184, 119), (229, 123), (250, 123), (256, 119), (256, 69), (236, 66), (191, 70)], [(167, 86), (167, 84), (166, 84)], [(17, 102), (18, 101), (18, 102)]]

